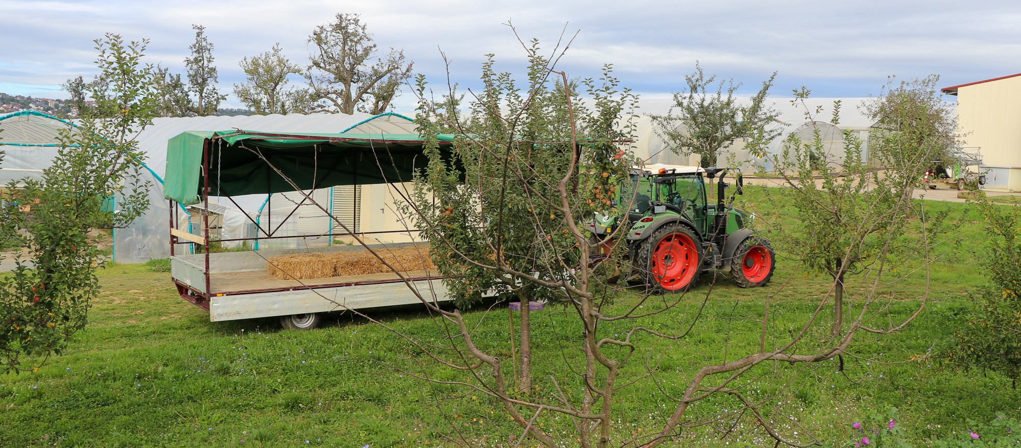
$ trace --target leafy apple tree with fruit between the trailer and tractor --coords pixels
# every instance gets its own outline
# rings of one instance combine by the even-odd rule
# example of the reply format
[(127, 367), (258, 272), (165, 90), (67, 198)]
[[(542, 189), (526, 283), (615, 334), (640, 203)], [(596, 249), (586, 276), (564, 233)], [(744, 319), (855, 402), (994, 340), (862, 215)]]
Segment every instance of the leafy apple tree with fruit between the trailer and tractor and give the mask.
[[(587, 247), (581, 247), (588, 243), (577, 239), (573, 232), (579, 230), (572, 226), (588, 219), (585, 212), (609, 209), (610, 185), (627, 175), (622, 162), (629, 159), (614, 159), (618, 151), (613, 142), (627, 139), (628, 118), (621, 115), (637, 98), (618, 88), (606, 66), (604, 85), (581, 81), (595, 108), (579, 107), (577, 94), (565, 89), (565, 80), (550, 77), (550, 61), (539, 54), (538, 43), (527, 50), (527, 90), (516, 87), (509, 73), (496, 72), (493, 55), (488, 55), (482, 90), (464, 122), (455, 113), (453, 89), (437, 111), (435, 102), (425, 100), (425, 78), (419, 77), (418, 95), (424, 100), (420, 124), (427, 132), (449, 129), (458, 136), (457, 165), (465, 172), (433, 153), (427, 175), (418, 179), (417, 213), (411, 214), (425, 229), (424, 237), (442, 241), (433, 259), (441, 273), (458, 279), (448, 284), (453, 296), (477, 299), (483, 291), (494, 291), (519, 300), (518, 386), (523, 390), (532, 385), (530, 302), (568, 299), (549, 285), (573, 277), (570, 269), (588, 260)], [(567, 81), (569, 88), (574, 85)], [(568, 197), (557, 198), (555, 188), (572, 171)], [(579, 198), (582, 203), (575, 203)], [(530, 279), (507, 275), (507, 270), (529, 273)], [(591, 284), (581, 287), (588, 290)]]

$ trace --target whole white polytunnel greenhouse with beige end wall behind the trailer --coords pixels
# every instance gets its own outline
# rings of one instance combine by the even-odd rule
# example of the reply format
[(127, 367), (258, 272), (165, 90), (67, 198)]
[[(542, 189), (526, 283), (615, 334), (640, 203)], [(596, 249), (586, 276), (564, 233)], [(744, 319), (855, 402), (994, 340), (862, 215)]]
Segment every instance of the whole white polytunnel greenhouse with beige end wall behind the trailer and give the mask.
[[(138, 180), (148, 181), (152, 185), (149, 190), (149, 209), (128, 228), (114, 229), (113, 260), (117, 263), (144, 263), (169, 256), (171, 214), (168, 203), (163, 199), (162, 188), (166, 168), (166, 145), (171, 137), (184, 131), (236, 128), (258, 129), (262, 132), (392, 134), (417, 133), (415, 126), (410, 118), (392, 112), (375, 116), (356, 113), (157, 118), (138, 135), (139, 149), (146, 154), (145, 163), (149, 168), (147, 172), (142, 173), (142, 179)], [(215, 174), (210, 172), (212, 176)], [(374, 229), (392, 232), (370, 239), (378, 239), (380, 242), (402, 242), (412, 239), (414, 235), (396, 232), (404, 229), (393, 192), (393, 188), (400, 187), (402, 187), (400, 184), (341, 185), (305, 192), (317, 203), (328, 207), (329, 211), (353, 232), (358, 232), (361, 227), (372, 226)], [(334, 222), (318, 207), (304, 201), (302, 193), (298, 191), (269, 195), (212, 197), (208, 209), (204, 210), (199, 205), (183, 208), (182, 213), (177, 214), (181, 220), (177, 228), (190, 229), (198, 234), (201, 229), (198, 224), (202, 215), (207, 214), (210, 239), (264, 236), (257, 234), (258, 227), (255, 223), (270, 223), (275, 236), (336, 233)], [(276, 223), (283, 223), (283, 227), (279, 227)], [(249, 248), (314, 247), (348, 241), (349, 238), (330, 236), (276, 238), (259, 240), (255, 243), (256, 246)], [(223, 243), (225, 248), (237, 247), (240, 244), (239, 241)]]

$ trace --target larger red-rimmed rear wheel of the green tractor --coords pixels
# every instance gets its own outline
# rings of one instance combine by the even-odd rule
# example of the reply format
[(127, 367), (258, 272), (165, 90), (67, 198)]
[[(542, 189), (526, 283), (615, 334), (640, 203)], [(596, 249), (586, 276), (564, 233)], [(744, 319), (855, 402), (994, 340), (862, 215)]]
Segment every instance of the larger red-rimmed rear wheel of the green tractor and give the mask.
[(661, 292), (685, 292), (701, 271), (701, 244), (695, 232), (677, 223), (652, 232), (638, 251), (639, 267), (649, 285)]

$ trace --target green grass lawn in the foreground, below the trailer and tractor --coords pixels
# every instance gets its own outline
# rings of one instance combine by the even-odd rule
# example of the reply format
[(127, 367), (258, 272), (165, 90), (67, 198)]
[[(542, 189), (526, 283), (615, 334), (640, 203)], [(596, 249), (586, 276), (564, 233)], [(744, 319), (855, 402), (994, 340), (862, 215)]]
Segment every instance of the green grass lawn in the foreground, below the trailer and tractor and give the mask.
[[(752, 190), (745, 201), (755, 211), (769, 206), (770, 199)], [(837, 360), (808, 369), (770, 365), (740, 382), (751, 397), (778, 397), (780, 404), (770, 416), (781, 428), (843, 443), (850, 423), (895, 406), (916, 446), (927, 446), (954, 431), (967, 431), (969, 418), (988, 421), (998, 412), (1018, 416), (1021, 395), (994, 373), (949, 370), (939, 359), (925, 357), (883, 363), (924, 356), (949, 343), (971, 302), (968, 294), (983, 284), (976, 267), (980, 219), (963, 204), (927, 203), (927, 209), (959, 221), (961, 232), (940, 244), (946, 256), (932, 266), (930, 301), (914, 324), (892, 336), (860, 335), (856, 353), (870, 359), (845, 356), (843, 372), (836, 372)], [(407, 447), (454, 446), (453, 439), (509, 447), (521, 434), (494, 400), (412, 378), (408, 373), (477, 382), (437, 366), (364, 319), (333, 314), (324, 328), (309, 332), (282, 331), (272, 319), (210, 323), (206, 312), (177, 296), (168, 273), (112, 265), (100, 277), (103, 292), (93, 304), (90, 323), (65, 355), (51, 358), (35, 374), (0, 376), (0, 446)], [(917, 309), (925, 285), (918, 272), (885, 289), (893, 298), (891, 318)], [(686, 328), (693, 310), (711, 293), (685, 339), (637, 339), (641, 348), (625, 372), (636, 383), (619, 391), (614, 445), (662, 424), (676, 406), (671, 397), (683, 391), (693, 370), (756, 352), (762, 325), (752, 319), (762, 316), (767, 294), (774, 294), (775, 321), (767, 342), (772, 346), (800, 327), (827, 286), (826, 278), (781, 259), (766, 288), (740, 289), (720, 279), (696, 288), (676, 310), (644, 321), (661, 331)], [(855, 307), (861, 292), (857, 284), (848, 289)], [(479, 344), (509, 359), (505, 304), (491, 304), (466, 313)], [(416, 307), (371, 315), (426, 343), (442, 344), (450, 330)], [(580, 383), (567, 375), (580, 366), (577, 350), (569, 345), (579, 333), (570, 310), (547, 306), (533, 316), (533, 325), (535, 393), (549, 393), (551, 386), (541, 379), (550, 375), (563, 379), (565, 389), (580, 390)], [(613, 336), (628, 325), (611, 323), (599, 331)], [(647, 366), (657, 367), (654, 375), (645, 375)], [(732, 399), (719, 397), (695, 410), (707, 416), (735, 406)], [(555, 415), (537, 422), (564, 430), (571, 425)], [(745, 417), (724, 438), (707, 427), (691, 434), (698, 446), (767, 443)], [(690, 444), (685, 438), (667, 445)]]

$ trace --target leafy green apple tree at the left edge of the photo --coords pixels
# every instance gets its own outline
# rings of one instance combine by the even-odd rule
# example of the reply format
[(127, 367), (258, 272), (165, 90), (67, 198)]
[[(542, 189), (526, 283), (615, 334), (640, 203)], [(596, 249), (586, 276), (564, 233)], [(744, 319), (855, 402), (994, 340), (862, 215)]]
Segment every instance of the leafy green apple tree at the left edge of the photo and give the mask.
[[(0, 278), (3, 370), (38, 370), (49, 355), (60, 354), (85, 326), (99, 292), (96, 269), (104, 261), (89, 231), (124, 227), (148, 204), (148, 185), (130, 180), (143, 169), (133, 138), (158, 109), (152, 67), (142, 63), (147, 41), (126, 43), (107, 34), (95, 42), (104, 82), (85, 88), (93, 107), (85, 109), (78, 128), (62, 133), (41, 181), (6, 186), (0, 239), (16, 240), (29, 258)], [(115, 213), (108, 206), (113, 198)]]

